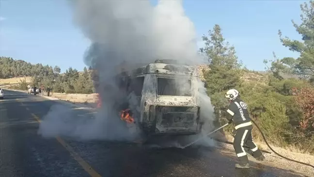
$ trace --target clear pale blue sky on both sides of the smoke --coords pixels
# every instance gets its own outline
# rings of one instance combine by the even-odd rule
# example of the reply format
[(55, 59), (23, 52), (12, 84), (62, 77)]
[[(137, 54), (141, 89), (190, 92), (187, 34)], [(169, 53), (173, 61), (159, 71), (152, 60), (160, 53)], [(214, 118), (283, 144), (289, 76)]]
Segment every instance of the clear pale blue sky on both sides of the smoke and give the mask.
[[(201, 36), (215, 24), (237, 56), (249, 69), (264, 70), (264, 59), (298, 53), (282, 46), (278, 36), (300, 39), (291, 23), (300, 23), (304, 0), (184, 0), (187, 16)], [(70, 8), (62, 0), (1, 0), (0, 56), (27, 62), (59, 65), (62, 72), (72, 66), (82, 70), (83, 53), (90, 45), (73, 25)]]

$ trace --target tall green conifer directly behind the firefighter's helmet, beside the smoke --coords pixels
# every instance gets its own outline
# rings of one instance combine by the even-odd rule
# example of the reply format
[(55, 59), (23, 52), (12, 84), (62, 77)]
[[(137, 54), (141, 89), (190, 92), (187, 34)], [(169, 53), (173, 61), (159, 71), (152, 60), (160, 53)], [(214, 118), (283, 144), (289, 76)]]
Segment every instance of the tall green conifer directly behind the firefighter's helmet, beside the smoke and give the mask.
[(203, 35), (205, 43), (200, 52), (208, 60), (209, 70), (204, 72), (207, 94), (216, 107), (226, 106), (224, 93), (240, 85), (241, 63), (238, 62), (235, 48), (229, 46), (221, 33), (219, 25), (208, 31), (208, 36)]

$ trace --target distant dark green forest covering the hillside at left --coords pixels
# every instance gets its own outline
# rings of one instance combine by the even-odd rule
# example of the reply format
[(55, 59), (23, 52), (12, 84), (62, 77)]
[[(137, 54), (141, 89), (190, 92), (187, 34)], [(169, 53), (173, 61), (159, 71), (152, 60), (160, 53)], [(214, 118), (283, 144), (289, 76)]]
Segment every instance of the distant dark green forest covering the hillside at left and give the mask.
[[(45, 88), (52, 87), (54, 92), (61, 93), (93, 93), (92, 68), (84, 67), (84, 71), (69, 67), (65, 73), (61, 73), (59, 66), (43, 64), (31, 64), (23, 60), (15, 60), (11, 57), (0, 57), (0, 79), (20, 76), (32, 76), (31, 85)], [(26, 81), (21, 81), (14, 88), (24, 88)], [(28, 84), (28, 83), (27, 83)]]

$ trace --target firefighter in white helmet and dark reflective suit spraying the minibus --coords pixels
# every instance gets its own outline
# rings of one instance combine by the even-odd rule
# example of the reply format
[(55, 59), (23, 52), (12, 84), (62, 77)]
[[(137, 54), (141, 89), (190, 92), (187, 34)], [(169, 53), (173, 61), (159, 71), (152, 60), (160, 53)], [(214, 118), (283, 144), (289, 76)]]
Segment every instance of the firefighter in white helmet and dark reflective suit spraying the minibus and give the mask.
[(236, 157), (239, 163), (235, 164), (235, 168), (250, 168), (250, 163), (246, 151), (243, 145), (250, 147), (252, 156), (258, 160), (263, 161), (265, 159), (261, 150), (252, 140), (252, 122), (248, 111), (248, 105), (246, 102), (240, 99), (240, 94), (237, 90), (231, 89), (226, 92), (226, 98), (229, 99), (229, 106), (226, 113), (226, 118), (229, 123), (234, 123), (234, 148)]

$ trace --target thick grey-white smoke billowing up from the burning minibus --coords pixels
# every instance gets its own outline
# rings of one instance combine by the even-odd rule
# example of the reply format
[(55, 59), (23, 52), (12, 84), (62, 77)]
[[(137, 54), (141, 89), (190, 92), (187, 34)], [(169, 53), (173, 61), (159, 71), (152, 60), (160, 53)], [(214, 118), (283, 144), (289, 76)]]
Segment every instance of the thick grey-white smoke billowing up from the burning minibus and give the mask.
[[(108, 89), (106, 92), (103, 89), (98, 90), (103, 99), (103, 108), (94, 121), (83, 125), (77, 122), (64, 125), (62, 119), (66, 114), (56, 118), (55, 112), (50, 112), (47, 120), (59, 121), (56, 124), (58, 129), (46, 129), (45, 124), (42, 124), (41, 133), (47, 136), (66, 134), (85, 139), (129, 139), (130, 133), (124, 129), (113, 111), (114, 100), (124, 99), (113, 83), (113, 76), (121, 71), (121, 63), (126, 64), (127, 69), (154, 62), (156, 59), (175, 59), (189, 64), (203, 63), (202, 57), (197, 53), (194, 25), (185, 15), (181, 0), (160, 0), (156, 6), (149, 0), (70, 3), (75, 24), (92, 41), (84, 62), (99, 72), (99, 88), (106, 86)], [(201, 116), (206, 117), (208, 125), (212, 125), (213, 108), (210, 98), (205, 93), (204, 83), (200, 81), (199, 84)], [(72, 131), (66, 127), (70, 127)], [(135, 136), (131, 138), (134, 139)]]

